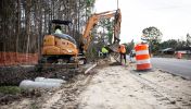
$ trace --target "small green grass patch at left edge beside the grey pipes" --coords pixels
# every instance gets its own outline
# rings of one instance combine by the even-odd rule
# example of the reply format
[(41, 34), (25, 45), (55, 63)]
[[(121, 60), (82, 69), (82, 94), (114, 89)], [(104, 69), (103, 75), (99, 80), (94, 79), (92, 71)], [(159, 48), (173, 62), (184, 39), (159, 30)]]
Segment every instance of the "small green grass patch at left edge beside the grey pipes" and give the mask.
[(0, 86), (0, 93), (2, 94), (16, 95), (16, 94), (21, 94), (22, 90), (23, 89), (17, 86)]

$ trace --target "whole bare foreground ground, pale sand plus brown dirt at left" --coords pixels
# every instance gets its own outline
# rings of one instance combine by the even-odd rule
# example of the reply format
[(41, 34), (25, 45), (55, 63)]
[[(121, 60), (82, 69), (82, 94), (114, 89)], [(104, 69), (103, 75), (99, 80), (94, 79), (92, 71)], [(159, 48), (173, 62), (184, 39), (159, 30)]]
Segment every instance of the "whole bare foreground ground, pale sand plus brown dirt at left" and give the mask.
[(191, 109), (191, 81), (135, 64), (100, 62), (59, 89), (24, 98), (0, 109)]

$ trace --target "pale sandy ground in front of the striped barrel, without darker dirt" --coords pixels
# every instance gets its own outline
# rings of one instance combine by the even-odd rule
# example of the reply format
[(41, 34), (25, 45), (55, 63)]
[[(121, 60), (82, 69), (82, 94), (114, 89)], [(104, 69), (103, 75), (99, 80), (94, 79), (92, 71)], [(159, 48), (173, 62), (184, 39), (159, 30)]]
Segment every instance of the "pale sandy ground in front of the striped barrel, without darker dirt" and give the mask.
[(79, 96), (79, 109), (191, 109), (191, 82), (158, 70), (98, 69)]

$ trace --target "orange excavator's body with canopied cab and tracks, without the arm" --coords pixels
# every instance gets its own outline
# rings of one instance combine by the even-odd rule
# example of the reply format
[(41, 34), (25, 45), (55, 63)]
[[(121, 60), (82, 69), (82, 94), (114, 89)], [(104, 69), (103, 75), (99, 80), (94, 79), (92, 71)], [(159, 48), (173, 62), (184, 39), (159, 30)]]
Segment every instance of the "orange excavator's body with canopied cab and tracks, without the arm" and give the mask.
[[(41, 63), (71, 63), (75, 62), (78, 55), (76, 40), (68, 35), (71, 21), (52, 20), (49, 35), (44, 35), (41, 48)], [(61, 25), (65, 27), (62, 33), (54, 33), (52, 27)], [(53, 31), (52, 31), (53, 29)]]

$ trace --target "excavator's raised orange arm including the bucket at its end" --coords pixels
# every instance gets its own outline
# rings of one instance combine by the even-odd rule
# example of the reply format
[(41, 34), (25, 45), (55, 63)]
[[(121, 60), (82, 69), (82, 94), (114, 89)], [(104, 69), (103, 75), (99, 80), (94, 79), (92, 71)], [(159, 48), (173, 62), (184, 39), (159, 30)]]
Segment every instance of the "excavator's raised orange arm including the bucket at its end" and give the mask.
[[(119, 46), (119, 34), (120, 34), (120, 23), (122, 23), (122, 13), (120, 9), (114, 10), (114, 11), (106, 11), (101, 13), (94, 13), (92, 14), (85, 27), (85, 32), (82, 34), (82, 50), (86, 52), (88, 50), (88, 47), (92, 40), (91, 36), (91, 29), (101, 21), (105, 19), (114, 19), (114, 25), (113, 25), (113, 43), (111, 45), (106, 45), (106, 49), (110, 51), (111, 56), (116, 60), (118, 58), (118, 46)], [(85, 58), (86, 59), (86, 58)]]

